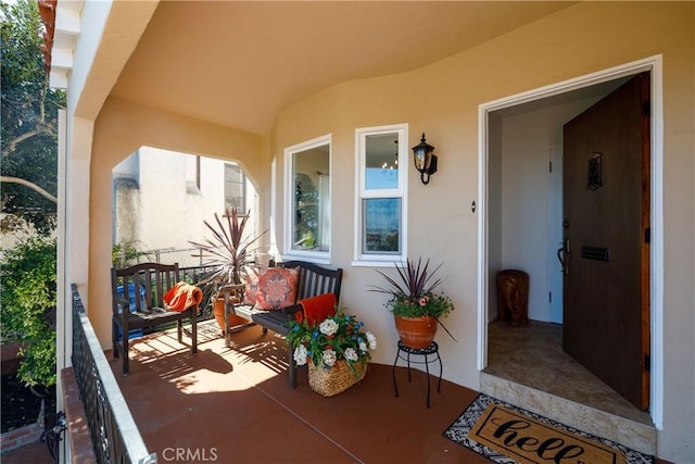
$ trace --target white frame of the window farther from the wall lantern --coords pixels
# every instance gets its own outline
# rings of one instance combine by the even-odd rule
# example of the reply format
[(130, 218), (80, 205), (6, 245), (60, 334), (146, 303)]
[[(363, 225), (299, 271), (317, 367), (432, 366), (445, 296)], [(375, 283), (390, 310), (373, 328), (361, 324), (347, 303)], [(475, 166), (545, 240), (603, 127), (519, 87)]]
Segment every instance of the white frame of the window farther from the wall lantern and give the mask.
[[(298, 250), (292, 248), (293, 246), (293, 217), (294, 217), (294, 172), (293, 172), (293, 156), (295, 153), (311, 150), (312, 148), (321, 147), (328, 145), (328, 223), (329, 223), (329, 237), (328, 237), (328, 251), (315, 251), (315, 250)], [(333, 180), (331, 176), (332, 172), (332, 135), (326, 134), (320, 137), (304, 141), (302, 143), (294, 145), (285, 149), (285, 226), (283, 226), (283, 253), (282, 259), (302, 260), (318, 264), (330, 264), (331, 249), (332, 249), (332, 189)]]

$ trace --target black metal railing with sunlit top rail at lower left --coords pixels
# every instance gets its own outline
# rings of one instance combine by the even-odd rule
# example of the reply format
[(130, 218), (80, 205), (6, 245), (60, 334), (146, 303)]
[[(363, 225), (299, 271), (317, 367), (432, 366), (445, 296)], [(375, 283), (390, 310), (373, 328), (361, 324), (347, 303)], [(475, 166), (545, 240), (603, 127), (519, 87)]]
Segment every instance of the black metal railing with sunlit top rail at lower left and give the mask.
[(98, 463), (156, 463), (130, 414), (77, 291), (73, 290), (73, 369)]

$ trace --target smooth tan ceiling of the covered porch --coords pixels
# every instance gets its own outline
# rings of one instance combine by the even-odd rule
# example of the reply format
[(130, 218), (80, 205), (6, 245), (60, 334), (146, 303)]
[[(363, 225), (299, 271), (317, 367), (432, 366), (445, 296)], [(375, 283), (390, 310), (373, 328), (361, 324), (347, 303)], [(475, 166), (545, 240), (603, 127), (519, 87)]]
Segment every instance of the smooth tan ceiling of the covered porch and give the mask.
[[(47, 3), (58, 4), (51, 76), (67, 83), (81, 2)], [(161, 1), (111, 96), (266, 134), (324, 89), (420, 68), (571, 4)]]

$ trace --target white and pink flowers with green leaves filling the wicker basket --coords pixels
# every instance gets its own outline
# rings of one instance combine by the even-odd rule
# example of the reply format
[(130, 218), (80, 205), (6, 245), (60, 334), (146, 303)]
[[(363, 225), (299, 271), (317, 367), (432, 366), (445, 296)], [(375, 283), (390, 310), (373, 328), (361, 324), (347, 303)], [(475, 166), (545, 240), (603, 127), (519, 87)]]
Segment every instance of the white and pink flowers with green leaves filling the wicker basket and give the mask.
[(377, 338), (363, 331), (364, 323), (338, 310), (320, 324), (290, 323), (288, 341), (294, 348), (294, 362), (303, 366), (309, 360), (315, 366), (330, 369), (344, 360), (354, 371), (356, 363), (368, 363), (370, 350), (376, 350)]

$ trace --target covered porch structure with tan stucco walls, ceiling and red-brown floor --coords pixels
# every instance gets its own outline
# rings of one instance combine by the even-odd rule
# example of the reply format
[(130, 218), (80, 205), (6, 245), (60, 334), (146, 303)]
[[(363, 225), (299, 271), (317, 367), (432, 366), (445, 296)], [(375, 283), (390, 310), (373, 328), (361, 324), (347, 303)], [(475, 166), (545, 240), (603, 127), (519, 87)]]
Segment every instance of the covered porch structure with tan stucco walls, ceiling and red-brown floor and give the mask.
[[(282, 353), (266, 361), (258, 356), (279, 346), (253, 331), (237, 336), (237, 343), (247, 344), (235, 350), (214, 348), (219, 339), (201, 343), (197, 359), (186, 347), (169, 346), (166, 336), (138, 341), (142, 358), (135, 360), (132, 374), (115, 378), (148, 450), (162, 457), (179, 442), (218, 447), (223, 462), (273, 461), (309, 449), (317, 453), (312, 461), (473, 462), (473, 453), (442, 432), (483, 388), (486, 329), (496, 316), (490, 276), (518, 265), (503, 230), (517, 230), (522, 222), (540, 230), (525, 236), (538, 238), (538, 250), (523, 263), (546, 262), (533, 274), (534, 283), (546, 280), (544, 256), (555, 260), (545, 247), (553, 240), (541, 208), (555, 198), (547, 183), (529, 177), (525, 186), (543, 191), (533, 190), (523, 208), (515, 208), (501, 196), (508, 187), (502, 168), (521, 161), (523, 151), (531, 162), (519, 165), (547, 177), (547, 150), (561, 142), (561, 124), (545, 127), (558, 101), (535, 99), (539, 93), (549, 86), (574, 89), (591, 76), (603, 83), (615, 77), (617, 66), (649, 60), (653, 184), (659, 192), (652, 211), (649, 422), (657, 455), (692, 461), (693, 111), (681, 104), (693, 98), (692, 4), (65, 0), (58, 12), (51, 81), (70, 89), (60, 150), (59, 308), (70, 308), (75, 284), (94, 339), (108, 347), (112, 170), (140, 147), (238, 162), (258, 191), (254, 214), (261, 228), (270, 230), (264, 244), (277, 258), (306, 258), (291, 241), (292, 150), (321, 138), (330, 140), (330, 249), (311, 258), (346, 269), (341, 305), (353, 309), (380, 341), (364, 383), (331, 400), (312, 392), (306, 377), (300, 377), (298, 390), (288, 390), (279, 375), (285, 366), (268, 361), (283, 360)], [(510, 96), (515, 106), (492, 114), (500, 125), (485, 135), (481, 108), (496, 110), (493, 103)], [(533, 129), (505, 128), (517, 110), (529, 118), (522, 123), (538, 123), (529, 126)], [(446, 322), (457, 341), (441, 339), (444, 383), (441, 394), (432, 393), (431, 410), (425, 406), (419, 369), (401, 398), (393, 398), (392, 317), (383, 298), (366, 291), (376, 271), (391, 267), (395, 255), (364, 256), (359, 205), (367, 197), (358, 181), (366, 175), (359, 165), (366, 154), (359, 143), (368, 129), (393, 133), (394, 127), (407, 154), (401, 164), (397, 258), (443, 262), (442, 290), (457, 309)], [(425, 131), (440, 155), (439, 172), (427, 186), (408, 153)], [(523, 221), (506, 214), (511, 210)], [(530, 221), (531, 212), (536, 220)], [(536, 294), (544, 304), (532, 306), (531, 318), (546, 321), (548, 292), (540, 288)], [(76, 353), (70, 310), (60, 315), (62, 371)], [(150, 363), (147, 354), (153, 350), (163, 355)], [(399, 441), (406, 444), (404, 454), (392, 450)]]

